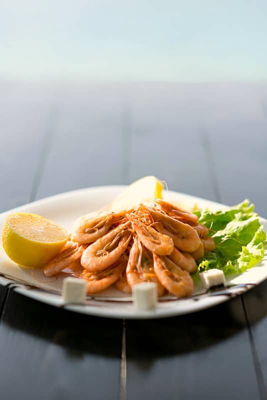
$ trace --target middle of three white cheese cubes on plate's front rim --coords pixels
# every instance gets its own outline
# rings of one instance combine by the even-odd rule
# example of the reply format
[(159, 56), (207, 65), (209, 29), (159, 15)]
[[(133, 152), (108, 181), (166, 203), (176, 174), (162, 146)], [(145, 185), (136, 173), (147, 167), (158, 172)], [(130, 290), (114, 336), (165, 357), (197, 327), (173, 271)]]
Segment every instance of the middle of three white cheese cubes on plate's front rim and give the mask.
[(157, 303), (157, 284), (155, 282), (137, 283), (133, 286), (132, 295), (137, 309), (152, 309)]

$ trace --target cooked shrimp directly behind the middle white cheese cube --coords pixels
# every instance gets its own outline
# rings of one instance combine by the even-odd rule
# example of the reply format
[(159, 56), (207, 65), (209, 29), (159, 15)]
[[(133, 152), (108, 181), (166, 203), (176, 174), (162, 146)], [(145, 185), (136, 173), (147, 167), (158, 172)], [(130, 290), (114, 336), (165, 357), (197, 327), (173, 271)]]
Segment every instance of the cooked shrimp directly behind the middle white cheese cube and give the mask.
[(137, 283), (155, 282), (157, 283), (158, 296), (161, 296), (164, 292), (164, 287), (155, 274), (153, 259), (137, 237), (134, 238), (130, 249), (126, 278), (131, 288)]

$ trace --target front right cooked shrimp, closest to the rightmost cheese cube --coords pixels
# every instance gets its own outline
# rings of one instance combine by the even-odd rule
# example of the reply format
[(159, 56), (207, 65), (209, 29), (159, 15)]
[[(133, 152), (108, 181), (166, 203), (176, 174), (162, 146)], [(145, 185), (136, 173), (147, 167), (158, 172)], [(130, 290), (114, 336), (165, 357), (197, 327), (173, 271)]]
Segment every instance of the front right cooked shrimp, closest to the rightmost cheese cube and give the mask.
[(192, 294), (194, 284), (187, 271), (182, 270), (166, 256), (153, 254), (155, 273), (161, 284), (174, 296), (185, 297)]

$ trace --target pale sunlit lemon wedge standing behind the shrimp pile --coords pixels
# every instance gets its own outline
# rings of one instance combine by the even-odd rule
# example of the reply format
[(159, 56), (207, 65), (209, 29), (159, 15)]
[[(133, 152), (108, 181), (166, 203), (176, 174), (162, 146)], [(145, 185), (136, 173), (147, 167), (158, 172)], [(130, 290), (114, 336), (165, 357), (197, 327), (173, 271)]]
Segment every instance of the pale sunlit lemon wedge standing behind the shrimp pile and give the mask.
[(162, 182), (155, 176), (144, 176), (127, 186), (105, 209), (118, 211), (134, 208), (141, 202), (162, 198), (162, 189)]

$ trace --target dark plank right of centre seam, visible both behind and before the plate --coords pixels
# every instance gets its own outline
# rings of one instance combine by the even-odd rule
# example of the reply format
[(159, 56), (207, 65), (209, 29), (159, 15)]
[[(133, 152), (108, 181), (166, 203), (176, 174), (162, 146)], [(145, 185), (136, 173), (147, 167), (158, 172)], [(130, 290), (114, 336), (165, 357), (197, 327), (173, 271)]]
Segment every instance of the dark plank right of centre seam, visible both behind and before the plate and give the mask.
[[(210, 97), (205, 101), (203, 93), (197, 94), (195, 115), (185, 112), (188, 103), (182, 95), (162, 94), (160, 88), (156, 94), (144, 94), (142, 101), (136, 95), (140, 102), (133, 105), (132, 176), (154, 173), (166, 179), (170, 189), (220, 201), (203, 123), (207, 102), (212, 108)], [(186, 97), (183, 87), (182, 94), (191, 99), (194, 92)], [(223, 96), (222, 104), (227, 98)], [(223, 116), (220, 111), (217, 118)], [(240, 298), (197, 314), (126, 321), (126, 354), (128, 399), (259, 398)]]

